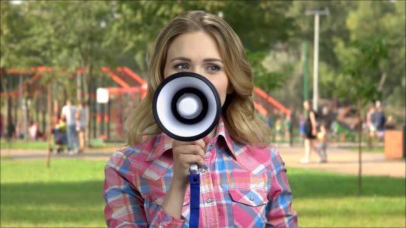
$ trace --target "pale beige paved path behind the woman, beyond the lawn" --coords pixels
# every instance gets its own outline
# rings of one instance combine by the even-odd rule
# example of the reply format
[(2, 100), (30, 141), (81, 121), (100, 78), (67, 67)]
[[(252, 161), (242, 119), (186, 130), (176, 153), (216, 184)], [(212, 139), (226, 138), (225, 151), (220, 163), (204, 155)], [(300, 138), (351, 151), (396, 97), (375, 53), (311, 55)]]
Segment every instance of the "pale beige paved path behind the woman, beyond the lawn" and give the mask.
[[(295, 167), (358, 174), (358, 152), (332, 147), (328, 149), (328, 163), (317, 163), (318, 156), (313, 154), (310, 163), (302, 164), (299, 163), (304, 152), (302, 147), (290, 148), (286, 145), (279, 145), (277, 147), (288, 168)], [(118, 148), (120, 146), (116, 148), (92, 149), (87, 150), (81, 155), (52, 154), (52, 159), (81, 158), (107, 161), (112, 152)], [(10, 159), (45, 159), (46, 150), (1, 149), (0, 155), (10, 157)], [(406, 161), (404, 159), (385, 159), (385, 155), (372, 152), (363, 152), (362, 159), (363, 175), (406, 177)]]

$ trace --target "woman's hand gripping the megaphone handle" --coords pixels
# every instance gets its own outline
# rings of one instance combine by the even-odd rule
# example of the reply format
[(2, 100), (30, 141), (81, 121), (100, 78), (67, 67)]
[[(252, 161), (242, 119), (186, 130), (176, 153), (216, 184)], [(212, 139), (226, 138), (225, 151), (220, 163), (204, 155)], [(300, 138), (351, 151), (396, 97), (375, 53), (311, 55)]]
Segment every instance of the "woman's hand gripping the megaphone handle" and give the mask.
[(206, 143), (203, 139), (196, 141), (173, 140), (173, 181), (176, 181), (181, 186), (189, 184), (190, 166), (192, 164), (197, 164), (199, 168), (204, 166), (205, 147)]

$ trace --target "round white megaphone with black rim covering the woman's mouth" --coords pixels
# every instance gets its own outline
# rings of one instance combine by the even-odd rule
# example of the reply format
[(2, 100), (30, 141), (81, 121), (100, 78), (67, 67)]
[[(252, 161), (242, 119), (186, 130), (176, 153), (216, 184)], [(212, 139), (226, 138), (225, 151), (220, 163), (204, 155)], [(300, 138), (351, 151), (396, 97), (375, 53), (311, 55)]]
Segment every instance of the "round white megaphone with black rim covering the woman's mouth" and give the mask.
[(221, 114), (220, 95), (200, 74), (175, 73), (165, 78), (153, 95), (153, 117), (159, 128), (178, 141), (209, 135)]

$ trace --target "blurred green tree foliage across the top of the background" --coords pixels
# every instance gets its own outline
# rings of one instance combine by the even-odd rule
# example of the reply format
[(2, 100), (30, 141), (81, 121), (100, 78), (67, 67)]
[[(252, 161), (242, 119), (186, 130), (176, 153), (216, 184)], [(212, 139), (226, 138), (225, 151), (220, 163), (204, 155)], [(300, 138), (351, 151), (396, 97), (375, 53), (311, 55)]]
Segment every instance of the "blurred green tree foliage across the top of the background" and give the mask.
[[(306, 10), (324, 8), (330, 14), (320, 17), (321, 98), (336, 98), (332, 89), (336, 78), (359, 52), (351, 41), (383, 37), (390, 58), (382, 59), (367, 77), (381, 82), (378, 88), (384, 101), (405, 106), (405, 1), (23, 1), (20, 5), (1, 1), (0, 67), (67, 69), (58, 75), (49, 73), (43, 83), (57, 80), (72, 93), (76, 83), (69, 75), (77, 67), (125, 65), (145, 77), (147, 52), (162, 27), (181, 12), (206, 10), (222, 15), (250, 50), (255, 85), (273, 91), (281, 102), (296, 102), (287, 106), (301, 106), (301, 99), (289, 96), (303, 94), (303, 41), (309, 43), (308, 75), (312, 76), (314, 16), (306, 15)], [(269, 60), (274, 54), (287, 58)], [(85, 79), (90, 82), (98, 73)]]

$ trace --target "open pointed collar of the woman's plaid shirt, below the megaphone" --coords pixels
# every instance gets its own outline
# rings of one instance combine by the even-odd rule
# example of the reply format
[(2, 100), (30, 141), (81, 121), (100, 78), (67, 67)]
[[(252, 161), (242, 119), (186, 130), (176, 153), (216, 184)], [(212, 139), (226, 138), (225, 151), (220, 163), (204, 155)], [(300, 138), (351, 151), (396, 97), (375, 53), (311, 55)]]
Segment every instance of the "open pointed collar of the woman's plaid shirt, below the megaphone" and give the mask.
[[(231, 154), (234, 156), (234, 158), (236, 158), (237, 156), (235, 154), (235, 149), (238, 150), (241, 146), (235, 144), (231, 139), (230, 135), (228, 134), (228, 131), (226, 130), (226, 126), (224, 124), (222, 116), (220, 116), (220, 121), (217, 124), (215, 137), (213, 137), (213, 139), (209, 141), (209, 144), (214, 144), (215, 142), (217, 142), (220, 135), (226, 141), (226, 146), (231, 151)], [(169, 137), (167, 134), (162, 132), (159, 135), (156, 135), (155, 137), (157, 137), (156, 140), (153, 140), (155, 141), (155, 144), (153, 145), (151, 152), (149, 153), (145, 161), (153, 161), (159, 159), (164, 154), (164, 152), (172, 149), (173, 139)]]

